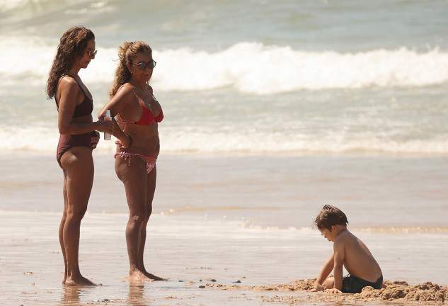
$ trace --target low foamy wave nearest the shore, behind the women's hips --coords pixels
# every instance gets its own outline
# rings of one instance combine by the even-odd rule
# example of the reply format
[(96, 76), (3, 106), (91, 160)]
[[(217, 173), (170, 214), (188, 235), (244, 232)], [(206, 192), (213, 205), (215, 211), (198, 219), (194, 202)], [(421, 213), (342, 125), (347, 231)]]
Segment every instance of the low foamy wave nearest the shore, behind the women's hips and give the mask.
[[(57, 127), (4, 127), (4, 152), (55, 152), (59, 134)], [(161, 154), (193, 152), (201, 154), (448, 154), (448, 138), (403, 140), (381, 139), (378, 136), (355, 137), (338, 132), (328, 137), (291, 135), (288, 132), (170, 132), (161, 130)], [(103, 140), (96, 152), (115, 152), (114, 141)]]

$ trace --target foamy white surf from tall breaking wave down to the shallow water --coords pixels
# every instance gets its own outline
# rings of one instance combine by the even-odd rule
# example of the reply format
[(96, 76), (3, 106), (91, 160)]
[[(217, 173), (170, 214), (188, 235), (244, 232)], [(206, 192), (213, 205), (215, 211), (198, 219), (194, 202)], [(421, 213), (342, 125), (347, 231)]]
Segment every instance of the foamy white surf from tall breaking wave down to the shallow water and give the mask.
[[(4, 106), (7, 106), (0, 124), (4, 147), (13, 152), (54, 152), (59, 137), (54, 103), (45, 104), (45, 109), (43, 106), (41, 109), (36, 108), (36, 102), (40, 94), (42, 101), (45, 99), (45, 82), (57, 40), (0, 36), (0, 43), (4, 46), (0, 57), (8, 59), (0, 66), (0, 92), (4, 93)], [(101, 47), (98, 43), (96, 47), (96, 59), (80, 74), (89, 88), (100, 91), (101, 94), (94, 94), (98, 108), (107, 100), (105, 93), (113, 81), (117, 48)], [(447, 83), (446, 50), (433, 48), (427, 52), (416, 52), (401, 47), (352, 53), (311, 52), (287, 46), (241, 42), (221, 52), (185, 47), (154, 50), (154, 59), (158, 64), (151, 82), (158, 94), (169, 97), (169, 103), (163, 103), (167, 119), (160, 129), (163, 152), (448, 153), (448, 138), (438, 123), (443, 122), (442, 117), (427, 119), (427, 115), (432, 113), (444, 115), (442, 95), (434, 94), (437, 100), (428, 105), (414, 106), (415, 109), (424, 107), (424, 114), (410, 109), (407, 98), (400, 96), (398, 98), (403, 101), (397, 102), (394, 98), (394, 107), (385, 103), (383, 97), (374, 100), (379, 104), (370, 106), (364, 103), (371, 92), (375, 94), (371, 87), (401, 93), (403, 90), (396, 87)], [(31, 98), (19, 91), (14, 91), (14, 96), (11, 96), (9, 88), (22, 88), (24, 83), (30, 85)], [(171, 91), (212, 91), (223, 87), (234, 89), (233, 94), (236, 91), (234, 106), (243, 106), (238, 116), (232, 109), (234, 106), (220, 109), (224, 106), (213, 105), (214, 98), (208, 96), (191, 101), (188, 104), (191, 109), (172, 100), (176, 94)], [(335, 109), (321, 109), (326, 108), (327, 103), (322, 103), (318, 97), (315, 100), (314, 93), (311, 94), (313, 97), (305, 97), (304, 101), (297, 103), (304, 98), (298, 91), (327, 89), (361, 89), (362, 93), (361, 98), (354, 100), (350, 96), (325, 96), (326, 100), (338, 105)], [(272, 94), (287, 91), (296, 91), (294, 98), (289, 97), (285, 100), (287, 106), (272, 113), (275, 106), (265, 100)], [(37, 92), (39, 94), (35, 94)], [(263, 96), (263, 103), (254, 104), (247, 100), (251, 95), (246, 93)], [(409, 103), (420, 101), (419, 97), (423, 96), (416, 91), (413, 94), (416, 96), (410, 98)], [(188, 95), (194, 96), (185, 93)], [(276, 99), (281, 96), (272, 97), (272, 101), (280, 105)], [(217, 103), (229, 103), (222, 97), (216, 100)], [(319, 103), (315, 105), (314, 101)], [(255, 105), (257, 107), (253, 108)], [(310, 106), (316, 110), (310, 110)], [(33, 107), (25, 118), (33, 122), (32, 126), (21, 125), (23, 107)], [(200, 111), (197, 113), (195, 110)], [(373, 111), (365, 113), (366, 110)], [(401, 110), (413, 119), (397, 118)], [(255, 115), (248, 118), (248, 114)], [(185, 118), (190, 115), (195, 118)], [(50, 125), (42, 123), (42, 120), (50, 122)], [(217, 124), (217, 120), (226, 120), (226, 125)], [(113, 142), (103, 141), (97, 150), (113, 152), (114, 149)]]

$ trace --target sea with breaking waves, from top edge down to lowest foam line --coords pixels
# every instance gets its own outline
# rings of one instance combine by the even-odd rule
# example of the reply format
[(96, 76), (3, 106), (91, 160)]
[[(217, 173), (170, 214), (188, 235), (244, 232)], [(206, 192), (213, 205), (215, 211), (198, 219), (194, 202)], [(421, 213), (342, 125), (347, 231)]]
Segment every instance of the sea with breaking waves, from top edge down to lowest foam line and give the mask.
[(48, 72), (64, 30), (84, 25), (98, 49), (80, 72), (94, 115), (117, 47), (151, 45), (162, 154), (444, 155), (447, 11), (444, 0), (4, 1), (4, 151), (54, 152)]

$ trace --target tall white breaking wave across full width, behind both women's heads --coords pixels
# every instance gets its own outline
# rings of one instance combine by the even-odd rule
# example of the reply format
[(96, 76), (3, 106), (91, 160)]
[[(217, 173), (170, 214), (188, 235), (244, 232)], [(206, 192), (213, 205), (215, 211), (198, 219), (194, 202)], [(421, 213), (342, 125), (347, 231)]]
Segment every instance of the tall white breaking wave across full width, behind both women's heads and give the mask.
[[(57, 42), (0, 37), (4, 85), (45, 84)], [(97, 45), (98, 55), (80, 74), (86, 84), (111, 84), (117, 49)], [(448, 82), (448, 52), (407, 47), (340, 53), (294, 50), (289, 46), (239, 42), (221, 52), (191, 48), (154, 50), (151, 80), (159, 91), (232, 88), (250, 94), (368, 87), (431, 86)], [(13, 55), (13, 56), (12, 56)], [(32, 61), (23, 59), (32, 58)], [(8, 76), (6, 78), (6, 76)]]

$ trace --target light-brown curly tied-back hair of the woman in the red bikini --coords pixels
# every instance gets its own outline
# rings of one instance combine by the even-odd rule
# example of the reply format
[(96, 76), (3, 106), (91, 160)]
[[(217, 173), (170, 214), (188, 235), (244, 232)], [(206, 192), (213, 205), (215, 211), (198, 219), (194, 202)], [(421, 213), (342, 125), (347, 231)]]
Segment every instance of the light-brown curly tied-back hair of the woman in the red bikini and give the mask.
[(115, 70), (115, 79), (113, 81), (113, 86), (109, 91), (110, 98), (117, 94), (117, 91), (122, 84), (125, 84), (131, 79), (131, 72), (127, 69), (126, 63), (132, 63), (132, 60), (134, 60), (140, 53), (146, 52), (149, 52), (152, 55), (151, 47), (141, 40), (124, 42), (123, 45), (120, 46), (120, 52), (118, 53), (120, 64)]

